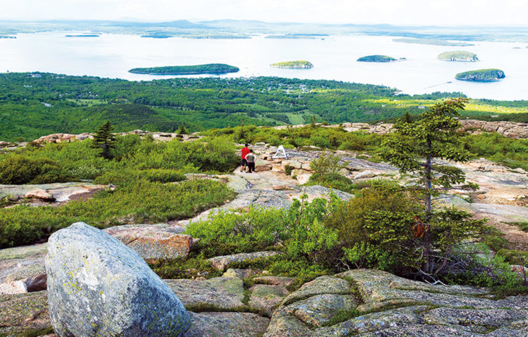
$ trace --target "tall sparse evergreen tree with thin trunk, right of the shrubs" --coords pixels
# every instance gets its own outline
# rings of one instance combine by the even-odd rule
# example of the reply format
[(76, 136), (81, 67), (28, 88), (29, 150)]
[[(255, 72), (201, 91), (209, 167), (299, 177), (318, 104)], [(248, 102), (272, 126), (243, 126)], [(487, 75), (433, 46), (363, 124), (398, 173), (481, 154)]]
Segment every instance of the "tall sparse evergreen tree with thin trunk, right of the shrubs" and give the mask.
[[(447, 256), (443, 261), (432, 266), (431, 240), (435, 224), (443, 233), (451, 235), (455, 228), (464, 228), (458, 233), (459, 237), (469, 235), (483, 227), (483, 221), (468, 220), (467, 213), (461, 214), (456, 210), (444, 210), (434, 213), (431, 208), (431, 197), (438, 195), (441, 190), (454, 188), (476, 189), (476, 184), (464, 184), (465, 175), (459, 168), (435, 164), (438, 159), (465, 162), (471, 153), (464, 149), (457, 130), (461, 123), (456, 120), (460, 116), (459, 110), (464, 109), (467, 99), (457, 98), (445, 100), (421, 113), (418, 120), (408, 122), (401, 118), (395, 124), (395, 132), (382, 144), (384, 160), (397, 166), (401, 173), (410, 173), (418, 177), (415, 191), (421, 193), (424, 205), (423, 219), (416, 226), (415, 235), (423, 239), (423, 272), (434, 274), (445, 267)], [(440, 239), (440, 240), (438, 240)], [(445, 237), (435, 238), (435, 241), (446, 241)], [(455, 245), (456, 242), (451, 242)], [(446, 254), (452, 248), (447, 248)], [(434, 269), (434, 270), (433, 270)]]

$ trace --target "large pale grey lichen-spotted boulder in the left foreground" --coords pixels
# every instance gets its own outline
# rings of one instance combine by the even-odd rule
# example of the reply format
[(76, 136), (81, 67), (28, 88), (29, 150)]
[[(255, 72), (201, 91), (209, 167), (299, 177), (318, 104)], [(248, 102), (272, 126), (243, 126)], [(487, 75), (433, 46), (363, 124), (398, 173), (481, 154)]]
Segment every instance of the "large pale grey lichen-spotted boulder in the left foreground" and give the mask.
[(190, 317), (136, 252), (78, 222), (48, 241), (50, 316), (58, 336), (178, 336)]

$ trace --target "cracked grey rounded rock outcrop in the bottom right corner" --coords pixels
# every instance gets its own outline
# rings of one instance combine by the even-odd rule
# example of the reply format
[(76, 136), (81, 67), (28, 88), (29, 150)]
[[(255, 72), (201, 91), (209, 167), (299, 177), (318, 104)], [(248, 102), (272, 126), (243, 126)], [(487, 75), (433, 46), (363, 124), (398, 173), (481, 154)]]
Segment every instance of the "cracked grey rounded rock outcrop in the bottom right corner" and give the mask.
[(527, 336), (528, 297), (492, 297), (476, 287), (350, 270), (287, 296), (264, 336)]

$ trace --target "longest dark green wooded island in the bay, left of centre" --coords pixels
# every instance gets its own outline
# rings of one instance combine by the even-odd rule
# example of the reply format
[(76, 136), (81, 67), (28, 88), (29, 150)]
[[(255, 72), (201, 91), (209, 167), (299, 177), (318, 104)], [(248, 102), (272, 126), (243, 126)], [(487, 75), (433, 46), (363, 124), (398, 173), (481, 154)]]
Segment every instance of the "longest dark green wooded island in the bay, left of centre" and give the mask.
[(238, 67), (224, 65), (222, 63), (210, 63), (207, 65), (173, 65), (167, 67), (133, 68), (129, 72), (133, 74), (149, 75), (194, 75), (194, 74), (226, 74), (239, 72)]

